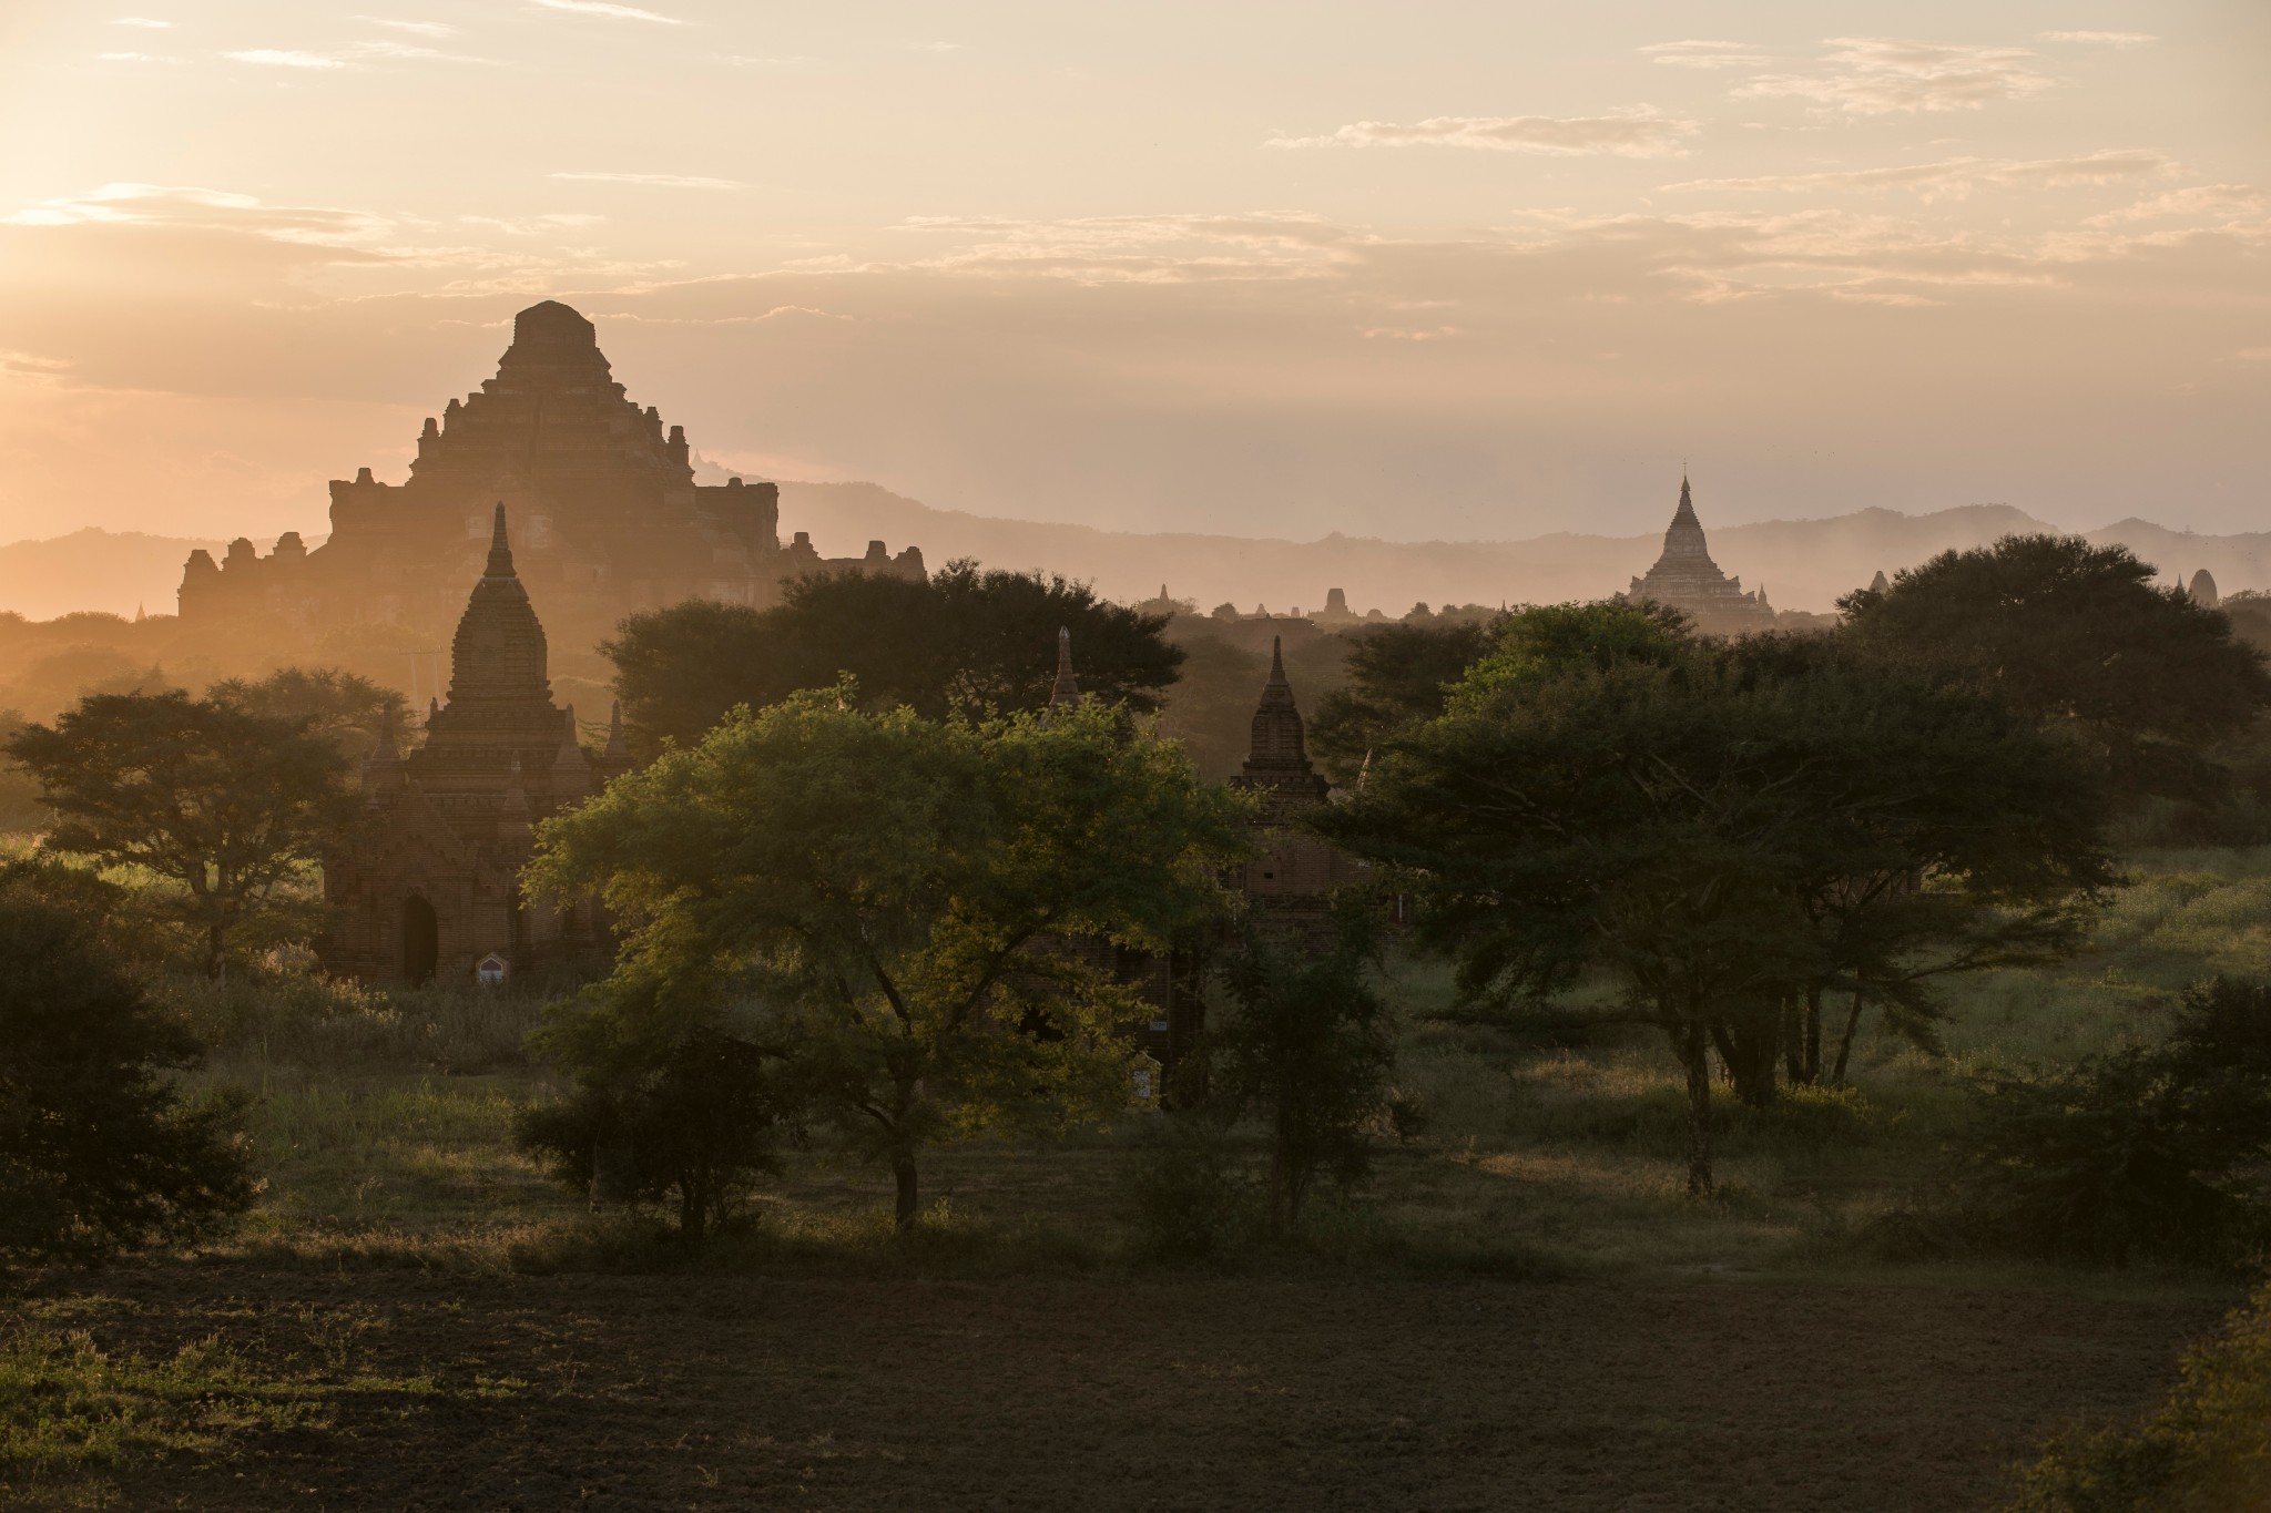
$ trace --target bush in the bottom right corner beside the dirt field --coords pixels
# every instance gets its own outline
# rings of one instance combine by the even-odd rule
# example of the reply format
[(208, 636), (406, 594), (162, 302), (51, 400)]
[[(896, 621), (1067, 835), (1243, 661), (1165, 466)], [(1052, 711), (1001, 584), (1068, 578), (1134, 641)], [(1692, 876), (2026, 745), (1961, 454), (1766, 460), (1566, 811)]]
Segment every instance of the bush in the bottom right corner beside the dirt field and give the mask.
[(2053, 1440), (2008, 1513), (2257, 1513), (2266, 1486), (2271, 1288), (2185, 1356), (2142, 1422)]

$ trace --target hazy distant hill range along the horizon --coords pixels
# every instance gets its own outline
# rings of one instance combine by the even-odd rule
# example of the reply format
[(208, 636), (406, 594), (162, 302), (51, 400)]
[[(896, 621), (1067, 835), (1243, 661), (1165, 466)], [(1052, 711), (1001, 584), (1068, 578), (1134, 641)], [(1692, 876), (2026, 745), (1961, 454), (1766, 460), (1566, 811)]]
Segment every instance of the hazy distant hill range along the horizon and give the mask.
[[(1980, 547), (2012, 531), (2053, 531), (2023, 510), (1971, 504), (1930, 515), (1858, 510), (1828, 519), (1769, 519), (1712, 529), (1712, 556), (1776, 608), (1828, 610), (1835, 599), (1951, 547)], [(1165, 583), (1208, 610), (1315, 610), (1331, 588), (1360, 612), (1401, 615), (1413, 603), (1522, 603), (1597, 599), (1656, 560), (1660, 535), (1556, 533), (1517, 542), (1383, 542), (1326, 535), (1313, 542), (1242, 535), (1133, 533), (933, 510), (874, 483), (781, 483), (781, 531), (811, 531), (822, 556), (856, 556), (870, 540), (922, 547), (940, 567), (972, 556), (999, 567), (1047, 567), (1086, 578), (1111, 599), (1149, 599)], [(2164, 574), (2207, 567), (2223, 592), (2271, 588), (2271, 533), (2189, 535), (2146, 519), (2089, 531), (2121, 542)], [(309, 538), (316, 544), (318, 538)], [(173, 612), (182, 560), (216, 540), (86, 529), (0, 547), (0, 610), (52, 619), (70, 610)], [(263, 542), (266, 551), (266, 542)]]

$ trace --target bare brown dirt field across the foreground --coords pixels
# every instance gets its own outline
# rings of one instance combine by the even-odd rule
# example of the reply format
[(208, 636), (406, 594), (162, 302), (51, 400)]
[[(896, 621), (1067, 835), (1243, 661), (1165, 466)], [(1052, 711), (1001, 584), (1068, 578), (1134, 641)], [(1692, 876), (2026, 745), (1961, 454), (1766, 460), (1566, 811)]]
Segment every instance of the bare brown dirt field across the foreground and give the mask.
[[(2221, 1304), (1694, 1282), (109, 1273), (107, 1350), (218, 1336), (334, 1422), (129, 1508), (1973, 1508), (2146, 1404)], [(93, 1304), (91, 1304), (93, 1307)], [(486, 1384), (486, 1386), (484, 1386)]]

